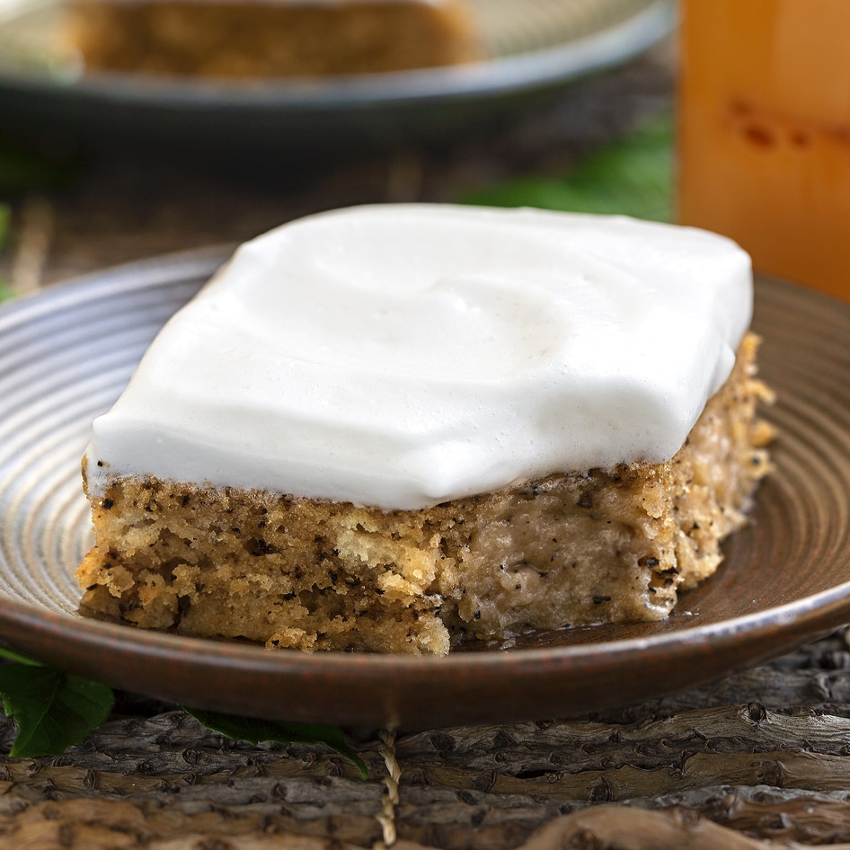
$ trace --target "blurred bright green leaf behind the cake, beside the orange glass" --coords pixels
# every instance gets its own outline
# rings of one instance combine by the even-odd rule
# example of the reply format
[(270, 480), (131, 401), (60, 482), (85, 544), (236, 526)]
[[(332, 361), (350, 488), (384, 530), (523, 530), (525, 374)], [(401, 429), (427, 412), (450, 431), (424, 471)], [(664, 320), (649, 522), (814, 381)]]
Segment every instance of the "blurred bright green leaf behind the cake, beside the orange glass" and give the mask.
[(655, 221), (673, 218), (673, 120), (660, 116), (562, 177), (529, 176), (461, 199), (491, 207), (540, 207)]

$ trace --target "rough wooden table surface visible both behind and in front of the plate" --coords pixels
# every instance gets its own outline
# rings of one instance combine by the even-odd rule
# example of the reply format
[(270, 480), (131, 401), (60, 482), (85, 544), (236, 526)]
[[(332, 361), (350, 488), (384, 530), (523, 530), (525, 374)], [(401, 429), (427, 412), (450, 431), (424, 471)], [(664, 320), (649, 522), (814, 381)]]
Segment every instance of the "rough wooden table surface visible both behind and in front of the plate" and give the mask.
[[(88, 270), (237, 243), (351, 203), (453, 200), (564, 173), (668, 106), (668, 46), (507, 126), (441, 145), (198, 164), (115, 153), (15, 199), (0, 274), (25, 292)], [(232, 166), (232, 167), (231, 167)], [(713, 686), (503, 727), (350, 730), (369, 778), (303, 746), (250, 747), (122, 697), (65, 757), (0, 757), (0, 848), (412, 850), (850, 848), (850, 649), (836, 634)], [(0, 725), (8, 751), (11, 722)]]

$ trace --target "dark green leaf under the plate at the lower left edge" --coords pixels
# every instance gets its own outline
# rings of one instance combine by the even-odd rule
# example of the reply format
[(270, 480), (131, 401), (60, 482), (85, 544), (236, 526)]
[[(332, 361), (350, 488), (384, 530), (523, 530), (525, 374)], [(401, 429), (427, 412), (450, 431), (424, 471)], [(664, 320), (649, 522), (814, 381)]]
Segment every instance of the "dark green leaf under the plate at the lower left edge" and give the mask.
[(109, 686), (30, 660), (0, 667), (0, 694), (18, 724), (13, 757), (61, 756), (106, 721), (115, 701)]

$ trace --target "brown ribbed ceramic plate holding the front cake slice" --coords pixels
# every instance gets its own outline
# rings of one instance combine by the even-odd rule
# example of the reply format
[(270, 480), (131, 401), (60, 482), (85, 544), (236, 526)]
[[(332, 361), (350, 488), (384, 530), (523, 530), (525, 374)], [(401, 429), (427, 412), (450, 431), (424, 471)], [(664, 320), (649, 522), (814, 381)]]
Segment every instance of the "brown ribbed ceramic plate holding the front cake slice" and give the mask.
[(668, 621), (530, 635), (445, 659), (265, 651), (76, 614), (89, 544), (79, 458), (157, 328), (223, 259), (193, 252), (91, 275), (0, 310), (0, 639), (200, 708), (408, 727), (510, 722), (694, 686), (850, 621), (850, 305), (762, 279), (776, 473), (726, 562)]

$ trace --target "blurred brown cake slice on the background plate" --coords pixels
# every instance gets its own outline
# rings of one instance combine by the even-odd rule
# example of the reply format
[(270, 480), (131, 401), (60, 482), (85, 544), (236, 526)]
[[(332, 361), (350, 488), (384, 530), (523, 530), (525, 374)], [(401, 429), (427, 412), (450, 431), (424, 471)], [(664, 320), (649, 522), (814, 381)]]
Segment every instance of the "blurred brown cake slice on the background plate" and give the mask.
[(464, 0), (72, 0), (94, 70), (223, 79), (402, 71), (479, 58)]

